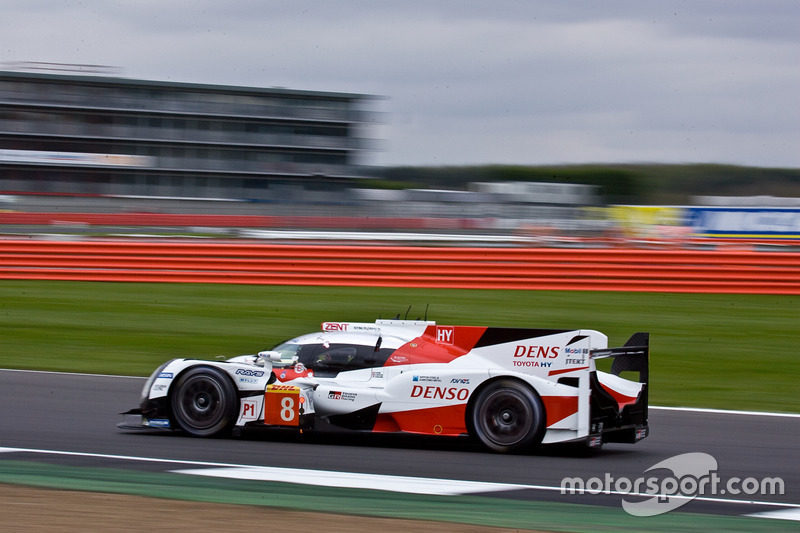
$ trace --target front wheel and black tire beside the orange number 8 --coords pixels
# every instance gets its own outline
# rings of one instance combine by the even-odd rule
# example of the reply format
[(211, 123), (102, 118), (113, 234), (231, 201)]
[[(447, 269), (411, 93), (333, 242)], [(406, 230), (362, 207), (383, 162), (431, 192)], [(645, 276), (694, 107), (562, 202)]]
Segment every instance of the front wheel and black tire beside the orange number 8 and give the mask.
[(236, 389), (217, 368), (190, 368), (178, 378), (170, 399), (175, 423), (193, 437), (226, 435), (236, 422)]

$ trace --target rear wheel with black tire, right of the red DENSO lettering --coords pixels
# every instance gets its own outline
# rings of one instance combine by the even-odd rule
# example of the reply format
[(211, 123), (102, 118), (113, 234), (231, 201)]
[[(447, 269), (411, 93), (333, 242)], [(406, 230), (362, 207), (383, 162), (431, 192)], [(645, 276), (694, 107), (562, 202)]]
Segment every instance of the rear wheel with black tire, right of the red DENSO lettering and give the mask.
[(514, 453), (542, 442), (545, 410), (530, 387), (504, 379), (478, 393), (468, 422), (470, 433), (484, 446), (495, 452)]

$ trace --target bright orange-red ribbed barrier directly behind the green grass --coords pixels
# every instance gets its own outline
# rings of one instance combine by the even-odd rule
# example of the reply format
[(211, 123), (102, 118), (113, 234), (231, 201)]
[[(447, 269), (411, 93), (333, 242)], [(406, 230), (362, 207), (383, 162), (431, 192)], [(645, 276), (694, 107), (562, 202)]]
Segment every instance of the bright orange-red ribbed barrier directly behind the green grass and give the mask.
[(800, 294), (800, 253), (0, 240), (0, 279)]

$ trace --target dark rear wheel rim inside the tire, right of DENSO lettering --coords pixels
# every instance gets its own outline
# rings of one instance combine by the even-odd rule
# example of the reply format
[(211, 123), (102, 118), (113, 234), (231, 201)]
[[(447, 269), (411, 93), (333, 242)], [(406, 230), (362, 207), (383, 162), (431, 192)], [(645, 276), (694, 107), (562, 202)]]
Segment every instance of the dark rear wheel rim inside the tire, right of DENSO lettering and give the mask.
[(531, 432), (534, 413), (527, 398), (518, 391), (501, 389), (491, 393), (480, 408), (482, 433), (499, 446), (512, 446)]

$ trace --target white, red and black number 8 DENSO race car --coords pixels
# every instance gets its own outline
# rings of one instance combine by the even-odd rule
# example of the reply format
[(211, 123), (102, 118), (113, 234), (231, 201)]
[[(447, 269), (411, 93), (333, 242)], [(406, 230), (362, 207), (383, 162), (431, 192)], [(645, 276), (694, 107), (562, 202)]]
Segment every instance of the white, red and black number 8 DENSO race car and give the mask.
[[(249, 426), (300, 431), (323, 419), (470, 435), (498, 452), (635, 443), (648, 434), (648, 345), (647, 333), (608, 348), (593, 330), (325, 322), (257, 355), (164, 363), (120, 427), (210, 437)], [(596, 369), (600, 358), (613, 358), (610, 372)]]

